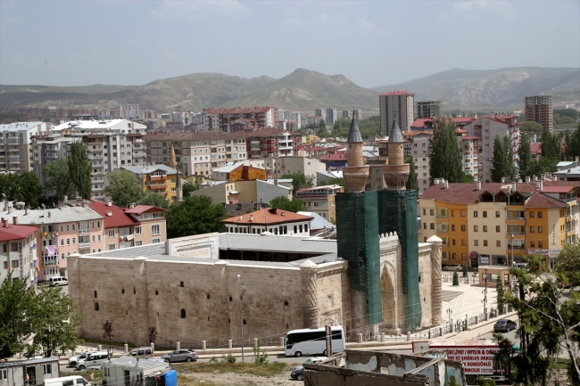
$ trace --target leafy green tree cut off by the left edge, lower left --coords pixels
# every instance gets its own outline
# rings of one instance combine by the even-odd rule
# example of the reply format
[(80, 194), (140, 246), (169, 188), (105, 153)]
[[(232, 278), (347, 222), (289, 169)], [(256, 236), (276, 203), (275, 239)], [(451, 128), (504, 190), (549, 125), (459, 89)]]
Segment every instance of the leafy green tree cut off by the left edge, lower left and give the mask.
[(0, 286), (0, 359), (22, 352), (35, 333), (30, 315), (37, 309), (36, 293), (27, 287), (27, 278), (12, 279), (12, 273)]

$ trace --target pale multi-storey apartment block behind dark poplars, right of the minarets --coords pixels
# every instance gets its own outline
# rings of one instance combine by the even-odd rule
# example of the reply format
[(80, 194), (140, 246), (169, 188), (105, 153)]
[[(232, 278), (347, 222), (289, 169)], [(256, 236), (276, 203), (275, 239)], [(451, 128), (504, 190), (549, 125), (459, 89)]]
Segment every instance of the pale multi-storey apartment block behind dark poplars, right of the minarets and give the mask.
[[(463, 149), (466, 146), (472, 149), (469, 154), (464, 154), (464, 157), (469, 155), (471, 158), (469, 166), (466, 166), (466, 171), (474, 171), (474, 167), (477, 168), (477, 176), (481, 180), (491, 178), (491, 168), (492, 168), (492, 158), (493, 158), (493, 140), (495, 136), (510, 136), (511, 146), (514, 153), (513, 162), (515, 165), (518, 163), (518, 149), (519, 149), (519, 123), (513, 116), (505, 117), (480, 117), (475, 119), (465, 126), (462, 127), (467, 131), (469, 137), (478, 137), (478, 141), (473, 139), (473, 143), (462, 144)], [(476, 147), (478, 144), (479, 147)], [(477, 151), (476, 151), (477, 150)], [(476, 165), (473, 156), (477, 156)]]

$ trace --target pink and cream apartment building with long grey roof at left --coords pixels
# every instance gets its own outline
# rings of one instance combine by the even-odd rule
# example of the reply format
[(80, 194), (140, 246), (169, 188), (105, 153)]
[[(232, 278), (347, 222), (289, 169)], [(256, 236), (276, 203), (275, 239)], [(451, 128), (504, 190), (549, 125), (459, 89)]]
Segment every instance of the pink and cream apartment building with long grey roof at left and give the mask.
[(38, 280), (66, 276), (67, 256), (103, 250), (103, 219), (87, 202), (66, 201), (52, 209), (27, 209), (12, 202), (0, 203), (3, 218), (35, 226)]

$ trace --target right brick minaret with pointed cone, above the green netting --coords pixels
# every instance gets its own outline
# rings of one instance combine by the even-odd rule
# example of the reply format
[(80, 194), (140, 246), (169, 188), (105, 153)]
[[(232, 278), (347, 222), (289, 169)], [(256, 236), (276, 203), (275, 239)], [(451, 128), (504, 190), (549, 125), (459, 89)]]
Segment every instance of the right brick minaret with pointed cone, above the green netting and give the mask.
[(409, 179), (410, 165), (405, 163), (402, 132), (396, 119), (393, 119), (391, 134), (389, 135), (389, 163), (383, 166), (387, 190), (405, 190)]

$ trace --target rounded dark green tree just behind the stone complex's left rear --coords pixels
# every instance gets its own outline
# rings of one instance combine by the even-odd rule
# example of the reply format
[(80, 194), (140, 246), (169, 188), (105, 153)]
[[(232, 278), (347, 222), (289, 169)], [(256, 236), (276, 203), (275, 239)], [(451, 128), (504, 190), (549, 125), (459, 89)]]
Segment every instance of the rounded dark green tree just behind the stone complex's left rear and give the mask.
[(221, 223), (224, 218), (226, 209), (223, 205), (214, 205), (211, 197), (185, 197), (179, 205), (171, 205), (165, 215), (167, 237), (172, 239), (192, 234), (224, 232), (225, 226)]

